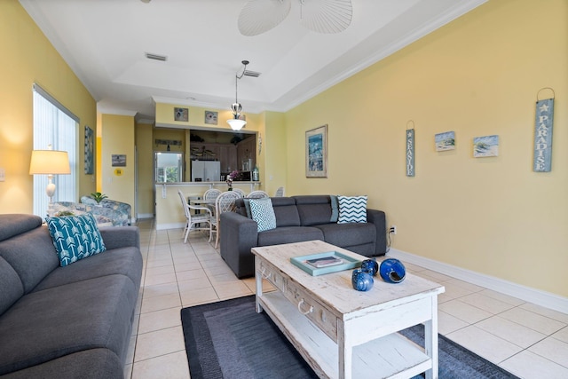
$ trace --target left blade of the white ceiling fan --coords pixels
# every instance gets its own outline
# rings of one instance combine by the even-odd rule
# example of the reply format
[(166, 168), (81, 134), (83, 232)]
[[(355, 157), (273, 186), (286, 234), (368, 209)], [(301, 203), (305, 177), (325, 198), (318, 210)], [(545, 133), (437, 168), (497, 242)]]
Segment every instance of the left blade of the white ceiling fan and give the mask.
[(291, 0), (249, 0), (239, 14), (243, 36), (258, 36), (275, 28), (290, 12)]

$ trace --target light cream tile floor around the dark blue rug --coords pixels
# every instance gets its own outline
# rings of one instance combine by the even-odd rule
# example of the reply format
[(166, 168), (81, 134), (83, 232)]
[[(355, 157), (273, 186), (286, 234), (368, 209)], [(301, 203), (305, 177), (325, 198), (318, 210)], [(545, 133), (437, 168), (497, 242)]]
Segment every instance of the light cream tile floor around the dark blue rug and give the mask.
[[(199, 232), (184, 244), (180, 229), (155, 231), (151, 219), (138, 226), (144, 272), (124, 376), (189, 378), (180, 310), (252, 295), (254, 278), (238, 280)], [(568, 314), (416, 265), (406, 270), (446, 287), (440, 334), (522, 378), (568, 378)]]

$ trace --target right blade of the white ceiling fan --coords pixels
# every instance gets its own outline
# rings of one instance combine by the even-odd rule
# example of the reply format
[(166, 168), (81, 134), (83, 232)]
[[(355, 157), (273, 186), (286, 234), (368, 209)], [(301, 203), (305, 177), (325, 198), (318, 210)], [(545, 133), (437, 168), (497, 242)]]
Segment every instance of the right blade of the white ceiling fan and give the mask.
[(351, 0), (300, 0), (300, 24), (317, 33), (343, 32), (351, 25)]

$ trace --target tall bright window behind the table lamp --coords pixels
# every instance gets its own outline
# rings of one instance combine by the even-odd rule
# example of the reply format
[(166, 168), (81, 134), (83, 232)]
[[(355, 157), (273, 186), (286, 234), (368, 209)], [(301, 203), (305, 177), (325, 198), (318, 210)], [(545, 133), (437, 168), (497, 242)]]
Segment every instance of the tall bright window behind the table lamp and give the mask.
[[(55, 175), (53, 201), (76, 201), (76, 148), (79, 118), (34, 84), (34, 150), (67, 151), (71, 175)], [(47, 175), (34, 175), (34, 214), (45, 217)]]

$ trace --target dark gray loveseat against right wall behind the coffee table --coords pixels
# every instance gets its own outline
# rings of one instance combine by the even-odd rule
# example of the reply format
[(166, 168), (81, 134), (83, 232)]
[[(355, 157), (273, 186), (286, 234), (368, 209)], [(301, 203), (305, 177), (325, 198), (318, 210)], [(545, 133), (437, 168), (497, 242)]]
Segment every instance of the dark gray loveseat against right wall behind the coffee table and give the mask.
[(257, 246), (320, 240), (366, 257), (386, 254), (385, 215), (367, 209), (367, 223), (331, 222), (329, 195), (272, 197), (276, 229), (257, 232), (256, 221), (248, 218), (244, 201), (237, 211), (221, 215), (221, 257), (239, 278), (255, 274), (255, 258), (250, 249)]

